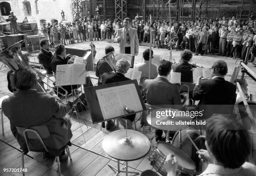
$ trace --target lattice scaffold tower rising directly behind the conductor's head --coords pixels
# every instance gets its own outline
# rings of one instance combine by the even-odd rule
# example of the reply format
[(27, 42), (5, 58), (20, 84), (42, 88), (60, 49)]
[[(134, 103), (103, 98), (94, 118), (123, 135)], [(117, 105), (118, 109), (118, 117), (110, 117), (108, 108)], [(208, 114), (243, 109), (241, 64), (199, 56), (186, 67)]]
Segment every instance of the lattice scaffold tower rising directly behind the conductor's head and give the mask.
[(127, 17), (127, 0), (115, 0), (115, 19), (123, 21)]

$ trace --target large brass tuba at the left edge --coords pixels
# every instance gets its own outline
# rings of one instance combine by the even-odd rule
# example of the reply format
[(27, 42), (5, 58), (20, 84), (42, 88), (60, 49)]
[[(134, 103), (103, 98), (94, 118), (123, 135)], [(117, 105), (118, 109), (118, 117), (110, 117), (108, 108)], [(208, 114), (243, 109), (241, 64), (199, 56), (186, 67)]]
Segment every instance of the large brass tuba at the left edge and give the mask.
[[(11, 45), (10, 47), (8, 47), (0, 53), (0, 62), (4, 63), (13, 72), (25, 66), (30, 67), (30, 65), (28, 64), (28, 56), (21, 53), (21, 45), (23, 44), (23, 42), (25, 42), (25, 40), (21, 40)], [(36, 72), (38, 80), (37, 90), (39, 92), (46, 92), (46, 89), (44, 88), (44, 84), (42, 82), (42, 80), (46, 76), (46, 73), (41, 73), (39, 71)]]

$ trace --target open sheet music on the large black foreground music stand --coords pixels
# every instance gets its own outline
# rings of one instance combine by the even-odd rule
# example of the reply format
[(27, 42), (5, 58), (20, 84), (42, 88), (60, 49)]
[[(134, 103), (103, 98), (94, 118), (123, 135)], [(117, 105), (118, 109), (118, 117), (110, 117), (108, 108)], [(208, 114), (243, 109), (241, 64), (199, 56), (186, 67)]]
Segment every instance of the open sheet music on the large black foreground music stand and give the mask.
[(104, 120), (124, 115), (124, 108), (143, 110), (135, 84), (96, 90)]

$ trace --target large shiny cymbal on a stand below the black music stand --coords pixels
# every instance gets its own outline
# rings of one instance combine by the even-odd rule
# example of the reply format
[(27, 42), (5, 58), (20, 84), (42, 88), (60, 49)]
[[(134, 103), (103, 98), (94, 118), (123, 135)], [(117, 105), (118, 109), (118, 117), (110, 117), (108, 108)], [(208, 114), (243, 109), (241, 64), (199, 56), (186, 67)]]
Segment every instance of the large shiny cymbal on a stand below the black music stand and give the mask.
[(130, 141), (125, 142), (125, 130), (109, 133), (102, 141), (102, 147), (109, 156), (121, 161), (133, 161), (145, 156), (150, 149), (148, 138), (135, 130), (127, 130)]

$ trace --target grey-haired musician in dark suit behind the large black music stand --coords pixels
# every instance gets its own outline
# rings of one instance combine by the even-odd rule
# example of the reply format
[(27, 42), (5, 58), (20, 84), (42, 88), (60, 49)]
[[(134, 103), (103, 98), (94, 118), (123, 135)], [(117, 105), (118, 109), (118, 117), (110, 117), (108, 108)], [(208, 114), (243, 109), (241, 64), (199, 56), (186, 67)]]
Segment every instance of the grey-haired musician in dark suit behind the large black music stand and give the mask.
[[(102, 75), (102, 84), (108, 84), (108, 83), (116, 83), (120, 81), (130, 80), (129, 78), (125, 77), (125, 73), (129, 70), (131, 67), (131, 64), (128, 60), (121, 59), (118, 60), (116, 63), (116, 72), (110, 72), (110, 73), (103, 73)], [(132, 122), (134, 121), (136, 114), (126, 116), (123, 118), (120, 118), (120, 123), (122, 126), (125, 127), (125, 120), (127, 121), (127, 129), (133, 129)], [(113, 121), (107, 121), (106, 129), (109, 130), (111, 126), (113, 126)]]

